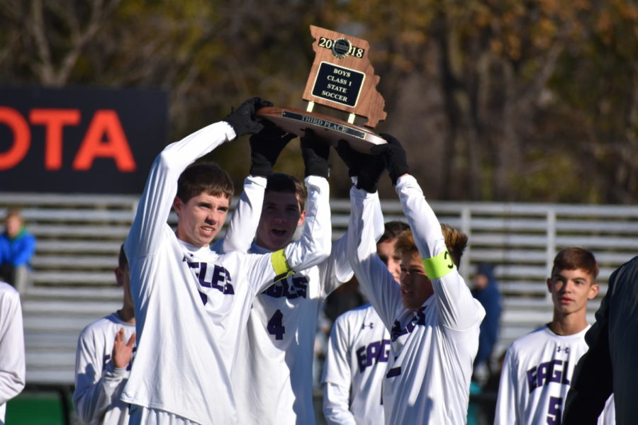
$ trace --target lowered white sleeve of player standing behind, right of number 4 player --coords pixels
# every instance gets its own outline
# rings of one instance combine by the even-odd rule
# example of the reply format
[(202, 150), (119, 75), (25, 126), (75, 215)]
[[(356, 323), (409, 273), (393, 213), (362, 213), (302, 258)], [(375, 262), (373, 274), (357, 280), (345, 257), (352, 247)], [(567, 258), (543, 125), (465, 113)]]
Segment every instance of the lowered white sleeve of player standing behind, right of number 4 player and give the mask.
[(323, 363), (323, 416), (330, 425), (355, 425), (349, 410), (352, 370), (350, 333), (345, 316), (337, 317), (330, 331)]

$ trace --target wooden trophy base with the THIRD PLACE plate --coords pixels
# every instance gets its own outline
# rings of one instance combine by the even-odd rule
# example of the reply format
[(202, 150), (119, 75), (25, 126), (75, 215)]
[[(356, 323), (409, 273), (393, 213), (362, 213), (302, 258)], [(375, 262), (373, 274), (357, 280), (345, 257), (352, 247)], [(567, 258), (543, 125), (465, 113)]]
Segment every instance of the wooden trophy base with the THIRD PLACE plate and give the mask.
[(371, 147), (386, 143), (383, 137), (367, 128), (302, 109), (269, 106), (258, 109), (257, 117), (269, 120), (281, 130), (299, 137), (310, 128), (320, 140), (325, 140), (330, 145), (337, 145), (339, 140), (345, 140), (352, 149), (364, 154), (370, 154)]

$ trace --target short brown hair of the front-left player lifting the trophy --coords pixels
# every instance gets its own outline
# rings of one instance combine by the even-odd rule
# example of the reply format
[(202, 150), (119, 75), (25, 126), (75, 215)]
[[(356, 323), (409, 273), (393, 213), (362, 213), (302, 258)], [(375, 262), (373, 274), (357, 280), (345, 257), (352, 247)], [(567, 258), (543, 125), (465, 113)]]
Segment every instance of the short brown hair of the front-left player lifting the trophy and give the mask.
[(226, 171), (213, 162), (191, 164), (177, 180), (177, 197), (187, 203), (200, 193), (233, 198), (235, 188)]

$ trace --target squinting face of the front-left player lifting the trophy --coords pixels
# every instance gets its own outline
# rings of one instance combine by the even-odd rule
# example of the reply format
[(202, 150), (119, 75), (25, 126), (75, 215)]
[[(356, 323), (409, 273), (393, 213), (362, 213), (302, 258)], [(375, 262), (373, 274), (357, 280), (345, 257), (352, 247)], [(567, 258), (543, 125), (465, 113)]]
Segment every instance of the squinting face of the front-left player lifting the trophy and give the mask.
[(175, 197), (173, 208), (179, 217), (177, 237), (195, 246), (208, 246), (220, 231), (228, 214), (229, 200), (202, 192), (184, 203)]

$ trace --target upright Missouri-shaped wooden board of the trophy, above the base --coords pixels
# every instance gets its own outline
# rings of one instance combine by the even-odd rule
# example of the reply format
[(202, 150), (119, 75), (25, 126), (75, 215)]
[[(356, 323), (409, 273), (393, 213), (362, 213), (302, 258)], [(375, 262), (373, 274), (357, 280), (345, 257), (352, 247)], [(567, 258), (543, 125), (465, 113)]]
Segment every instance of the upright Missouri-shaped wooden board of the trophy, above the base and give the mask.
[[(372, 64), (368, 59), (368, 52), (370, 50), (369, 42), (362, 40), (361, 38), (351, 37), (349, 35), (337, 33), (335, 31), (319, 28), (313, 25), (310, 26), (310, 34), (314, 38), (313, 50), (315, 52), (315, 60), (312, 68), (310, 69), (310, 75), (308, 76), (308, 81), (306, 83), (306, 90), (303, 91), (303, 100), (313, 101), (330, 108), (366, 117), (368, 121), (364, 125), (371, 128), (376, 127), (379, 121), (385, 120), (387, 116), (387, 113), (384, 111), (386, 101), (384, 101), (384, 98), (381, 94), (379, 94), (379, 91), (376, 90), (376, 85), (379, 84), (379, 76), (374, 74), (374, 67), (372, 67)], [(347, 55), (341, 58), (336, 57), (332, 54), (330, 49), (319, 46), (319, 40), (322, 37), (329, 40), (346, 38), (352, 43), (352, 45), (363, 49), (363, 55), (362, 57), (355, 57), (354, 55)], [(365, 74), (356, 105), (348, 106), (343, 103), (337, 103), (335, 101), (330, 101), (326, 98), (313, 95), (315, 80), (322, 62), (329, 62), (337, 67), (354, 69)]]

